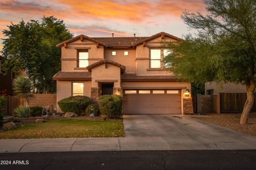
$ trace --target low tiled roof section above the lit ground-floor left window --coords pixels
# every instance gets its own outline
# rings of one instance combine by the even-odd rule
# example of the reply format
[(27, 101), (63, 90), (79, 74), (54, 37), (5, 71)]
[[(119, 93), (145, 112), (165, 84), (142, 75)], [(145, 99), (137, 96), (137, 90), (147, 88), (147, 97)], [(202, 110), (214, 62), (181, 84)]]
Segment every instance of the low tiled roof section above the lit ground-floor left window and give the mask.
[(91, 80), (91, 72), (62, 72), (53, 76), (53, 80)]

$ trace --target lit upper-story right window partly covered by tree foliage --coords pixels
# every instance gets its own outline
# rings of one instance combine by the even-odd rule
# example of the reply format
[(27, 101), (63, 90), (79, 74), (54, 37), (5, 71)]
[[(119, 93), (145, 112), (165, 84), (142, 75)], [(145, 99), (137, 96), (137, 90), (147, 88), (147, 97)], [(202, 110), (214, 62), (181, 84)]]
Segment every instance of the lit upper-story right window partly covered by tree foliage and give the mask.
[(150, 49), (150, 68), (161, 69), (162, 67), (168, 67), (168, 65), (162, 66), (161, 61), (170, 53), (170, 49)]

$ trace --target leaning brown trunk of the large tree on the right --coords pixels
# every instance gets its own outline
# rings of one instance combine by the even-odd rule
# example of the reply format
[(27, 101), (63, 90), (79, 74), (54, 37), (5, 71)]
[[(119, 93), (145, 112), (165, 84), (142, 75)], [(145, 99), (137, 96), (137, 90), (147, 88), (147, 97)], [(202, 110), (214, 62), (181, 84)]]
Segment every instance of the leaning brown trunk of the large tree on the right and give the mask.
[(254, 104), (255, 86), (256, 86), (256, 84), (254, 81), (250, 81), (250, 84), (246, 84), (247, 99), (244, 104), (244, 109), (243, 109), (243, 113), (241, 115), (240, 124), (246, 124), (248, 121), (249, 114), (250, 114), (252, 106)]

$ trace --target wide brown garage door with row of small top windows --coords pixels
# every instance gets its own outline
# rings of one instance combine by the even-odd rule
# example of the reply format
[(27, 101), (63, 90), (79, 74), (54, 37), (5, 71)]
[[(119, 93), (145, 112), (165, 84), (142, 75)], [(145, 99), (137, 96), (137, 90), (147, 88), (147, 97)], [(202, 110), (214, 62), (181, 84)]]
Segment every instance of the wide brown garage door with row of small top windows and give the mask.
[(181, 114), (180, 90), (124, 90), (124, 114)]

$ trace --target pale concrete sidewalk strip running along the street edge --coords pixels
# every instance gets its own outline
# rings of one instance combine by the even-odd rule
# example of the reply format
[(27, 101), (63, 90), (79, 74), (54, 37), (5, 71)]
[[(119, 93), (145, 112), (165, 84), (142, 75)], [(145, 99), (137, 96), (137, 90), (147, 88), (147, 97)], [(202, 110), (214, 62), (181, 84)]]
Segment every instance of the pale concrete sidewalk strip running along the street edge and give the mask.
[(2, 139), (0, 152), (117, 151), (117, 150), (233, 150), (256, 149), (247, 142), (167, 142), (161, 137)]

